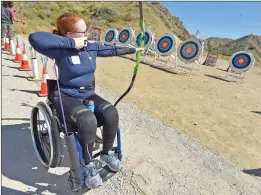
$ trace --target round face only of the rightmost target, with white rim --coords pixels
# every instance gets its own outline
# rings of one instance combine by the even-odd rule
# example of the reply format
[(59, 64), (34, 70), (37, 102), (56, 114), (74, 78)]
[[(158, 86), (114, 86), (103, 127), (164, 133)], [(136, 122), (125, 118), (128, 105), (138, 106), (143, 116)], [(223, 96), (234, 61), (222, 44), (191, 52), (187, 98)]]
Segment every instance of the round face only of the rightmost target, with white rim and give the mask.
[(254, 64), (254, 61), (255, 59), (252, 53), (239, 51), (230, 57), (229, 65), (233, 71), (241, 73), (250, 69)]

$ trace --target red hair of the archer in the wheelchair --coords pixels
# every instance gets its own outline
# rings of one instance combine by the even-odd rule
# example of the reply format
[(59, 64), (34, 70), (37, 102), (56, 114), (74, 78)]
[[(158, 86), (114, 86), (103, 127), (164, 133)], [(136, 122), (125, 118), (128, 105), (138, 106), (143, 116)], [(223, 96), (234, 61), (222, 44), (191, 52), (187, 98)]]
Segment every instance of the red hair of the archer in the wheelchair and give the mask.
[(53, 33), (64, 36), (67, 32), (74, 32), (76, 31), (75, 24), (79, 20), (82, 20), (82, 18), (74, 13), (64, 13), (56, 18), (57, 30), (54, 30)]

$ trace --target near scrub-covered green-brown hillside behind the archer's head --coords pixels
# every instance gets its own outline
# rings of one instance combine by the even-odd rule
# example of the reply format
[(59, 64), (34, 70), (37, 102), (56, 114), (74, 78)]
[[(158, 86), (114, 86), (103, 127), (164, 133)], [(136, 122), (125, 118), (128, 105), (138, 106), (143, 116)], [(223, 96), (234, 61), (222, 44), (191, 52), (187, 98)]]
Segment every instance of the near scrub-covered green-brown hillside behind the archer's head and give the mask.
[[(51, 31), (55, 28), (55, 18), (64, 12), (77, 13), (90, 25), (100, 6), (94, 26), (103, 29), (114, 27), (118, 30), (131, 26), (136, 34), (140, 31), (138, 2), (15, 2), (18, 16), (23, 17), (23, 12), (26, 12), (28, 18), (24, 30), (22, 24), (16, 24), (16, 29), (18, 33), (24, 34), (39, 30)], [(145, 27), (150, 28), (156, 37), (166, 32), (172, 32), (181, 40), (190, 36), (179, 18), (171, 16), (168, 9), (159, 3), (143, 2), (143, 12)]]

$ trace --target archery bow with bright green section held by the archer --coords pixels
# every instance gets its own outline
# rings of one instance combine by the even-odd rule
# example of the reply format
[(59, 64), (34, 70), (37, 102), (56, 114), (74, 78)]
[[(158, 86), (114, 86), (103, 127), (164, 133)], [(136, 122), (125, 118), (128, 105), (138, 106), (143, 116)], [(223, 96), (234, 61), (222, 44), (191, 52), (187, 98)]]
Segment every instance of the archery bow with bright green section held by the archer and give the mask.
[[(144, 35), (145, 35), (145, 24), (144, 24), (144, 20), (143, 20), (143, 11), (142, 11), (142, 2), (140, 1), (139, 2), (139, 8), (140, 8), (140, 29), (141, 29), (141, 36), (140, 36), (140, 41), (139, 41), (139, 48), (143, 48), (144, 47)], [(131, 84), (129, 86), (129, 88), (125, 91), (125, 93), (115, 102), (114, 106), (116, 107), (116, 105), (130, 92), (133, 84), (134, 84), (134, 81), (135, 81), (135, 78), (138, 74), (138, 71), (139, 71), (139, 65), (140, 65), (140, 55), (141, 55), (141, 52), (137, 52), (136, 53), (136, 66), (134, 68), (134, 73), (133, 73), (133, 76), (132, 76), (132, 80), (131, 80)]]

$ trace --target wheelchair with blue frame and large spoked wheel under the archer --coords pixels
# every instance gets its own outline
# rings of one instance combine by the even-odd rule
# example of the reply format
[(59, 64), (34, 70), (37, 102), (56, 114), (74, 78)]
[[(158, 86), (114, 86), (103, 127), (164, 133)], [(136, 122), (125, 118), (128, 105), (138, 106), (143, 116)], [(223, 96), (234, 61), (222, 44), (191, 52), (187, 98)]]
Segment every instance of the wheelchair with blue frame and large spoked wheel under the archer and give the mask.
[[(60, 137), (60, 133), (63, 132), (64, 135), (66, 135), (65, 129), (63, 124), (61, 123), (59, 116), (56, 112), (56, 109), (54, 108), (54, 106), (52, 105), (51, 101), (50, 101), (50, 94), (51, 92), (55, 89), (56, 87), (56, 80), (51, 80), (51, 79), (47, 79), (47, 87), (48, 87), (48, 97), (45, 102), (38, 102), (36, 104), (36, 106), (32, 109), (31, 112), (31, 136), (32, 136), (32, 141), (33, 141), (33, 145), (34, 145), (34, 149), (36, 152), (36, 155), (38, 157), (38, 159), (40, 160), (40, 162), (42, 163), (42, 165), (46, 168), (55, 168), (60, 166), (61, 164), (61, 154), (62, 154), (62, 145), (61, 145), (61, 137)], [(39, 114), (38, 112), (41, 111), (45, 121), (47, 122), (47, 131), (48, 132), (41, 132), (42, 134), (49, 134), (49, 140), (50, 140), (50, 158), (49, 161), (46, 158), (45, 154), (43, 155), (44, 151), (42, 148), (42, 145), (40, 143), (40, 137), (39, 137), (39, 129), (37, 128), (38, 124), (38, 116), (37, 114)], [(42, 126), (43, 127), (43, 126)], [(41, 136), (42, 136), (41, 134)], [(66, 137), (70, 137), (71, 135), (73, 135), (73, 139), (72, 138), (67, 138), (74, 140), (74, 141), (67, 141), (67, 148), (68, 148), (68, 153), (69, 153), (69, 157), (71, 159), (71, 170), (74, 169), (72, 168), (72, 164), (76, 163), (76, 166), (80, 166), (80, 164), (82, 164), (84, 162), (83, 160), (83, 155), (82, 155), (82, 146), (79, 142), (79, 138), (77, 136), (77, 133), (70, 133), (70, 135), (65, 136)], [(69, 144), (68, 144), (69, 143)], [(72, 147), (69, 146), (72, 144)], [(95, 144), (102, 144), (102, 139), (100, 139), (97, 135), (96, 135), (96, 139), (95, 139)], [(71, 149), (70, 149), (71, 147)], [(73, 148), (73, 149), (72, 149)], [(119, 160), (122, 161), (122, 151), (121, 151), (121, 135), (120, 135), (120, 128), (117, 128), (117, 146), (113, 147), (113, 150), (115, 151), (115, 153), (118, 155)], [(72, 157), (70, 155), (70, 151), (73, 151), (73, 153), (77, 153), (77, 154), (72, 154)], [(93, 159), (96, 159), (99, 155), (100, 155), (101, 151), (97, 152), (96, 154), (94, 154), (92, 156)], [(76, 156), (75, 156), (76, 155)], [(77, 161), (75, 161), (75, 158), (78, 158)], [(79, 165), (77, 165), (78, 163), (80, 163)], [(109, 170), (109, 168), (107, 166), (100, 166), (98, 167), (99, 169), (99, 173), (101, 178), (103, 179), (103, 181), (108, 180), (110, 177), (112, 177), (115, 173), (112, 172), (111, 170)], [(81, 168), (81, 178), (82, 178), (82, 168)], [(78, 175), (79, 176), (79, 175)]]

